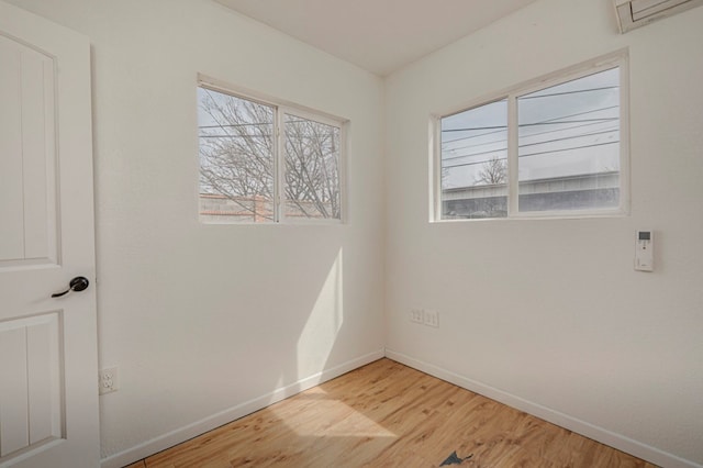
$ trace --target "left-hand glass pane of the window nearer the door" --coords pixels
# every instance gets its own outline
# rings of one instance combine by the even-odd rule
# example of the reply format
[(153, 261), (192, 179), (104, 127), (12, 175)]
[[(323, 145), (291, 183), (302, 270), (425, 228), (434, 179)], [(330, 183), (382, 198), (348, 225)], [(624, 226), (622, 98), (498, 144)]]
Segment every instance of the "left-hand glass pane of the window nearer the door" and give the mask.
[(274, 221), (274, 108), (198, 88), (200, 218)]

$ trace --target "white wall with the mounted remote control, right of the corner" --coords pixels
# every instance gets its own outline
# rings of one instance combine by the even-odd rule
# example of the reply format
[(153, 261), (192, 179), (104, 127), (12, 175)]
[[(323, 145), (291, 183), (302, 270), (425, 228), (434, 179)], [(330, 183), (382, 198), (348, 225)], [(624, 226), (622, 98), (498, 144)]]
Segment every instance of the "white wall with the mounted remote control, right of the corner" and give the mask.
[[(387, 80), (387, 348), (667, 466), (703, 464), (703, 8), (539, 0)], [(432, 112), (629, 47), (632, 215), (428, 223)], [(657, 268), (633, 270), (654, 229)], [(439, 311), (438, 330), (409, 321)]]

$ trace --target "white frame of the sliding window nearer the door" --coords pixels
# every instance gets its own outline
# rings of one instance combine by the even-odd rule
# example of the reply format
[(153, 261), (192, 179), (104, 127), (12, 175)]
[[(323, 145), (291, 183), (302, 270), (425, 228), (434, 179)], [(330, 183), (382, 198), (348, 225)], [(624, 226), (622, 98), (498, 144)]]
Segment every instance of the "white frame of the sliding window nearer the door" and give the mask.
[[(345, 224), (347, 213), (347, 133), (349, 121), (339, 116), (317, 111), (308, 107), (271, 98), (257, 91), (253, 91), (238, 86), (230, 85), (216, 78), (198, 74), (198, 88), (210, 89), (215, 92), (244, 99), (263, 105), (274, 108), (274, 221), (268, 223), (257, 223), (254, 221), (227, 222), (203, 221), (203, 224), (227, 224), (227, 225), (276, 225), (276, 224)], [(339, 218), (293, 218), (286, 215), (286, 135), (282, 131), (284, 115), (295, 115), (325, 125), (339, 129), (339, 160), (338, 183), (339, 183)], [(200, 147), (200, 142), (198, 143)], [(200, 175), (200, 152), (198, 152), (198, 174)], [(200, 176), (197, 178), (197, 193), (200, 196)], [(200, 216), (199, 216), (200, 218)]]

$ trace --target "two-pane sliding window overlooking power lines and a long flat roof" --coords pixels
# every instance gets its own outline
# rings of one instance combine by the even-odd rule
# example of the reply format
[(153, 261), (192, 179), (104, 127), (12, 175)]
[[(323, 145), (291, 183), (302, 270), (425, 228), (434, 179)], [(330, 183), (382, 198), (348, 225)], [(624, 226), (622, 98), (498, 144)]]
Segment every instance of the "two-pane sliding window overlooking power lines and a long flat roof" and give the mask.
[(626, 56), (536, 80), (438, 121), (438, 220), (627, 210)]

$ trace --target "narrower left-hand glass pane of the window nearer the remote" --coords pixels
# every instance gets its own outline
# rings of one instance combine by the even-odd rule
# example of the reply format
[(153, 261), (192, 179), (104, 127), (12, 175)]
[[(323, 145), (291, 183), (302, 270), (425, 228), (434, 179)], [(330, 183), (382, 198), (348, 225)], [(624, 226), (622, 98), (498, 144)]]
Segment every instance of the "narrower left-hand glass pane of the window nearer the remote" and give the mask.
[(507, 101), (442, 119), (442, 219), (507, 215)]

